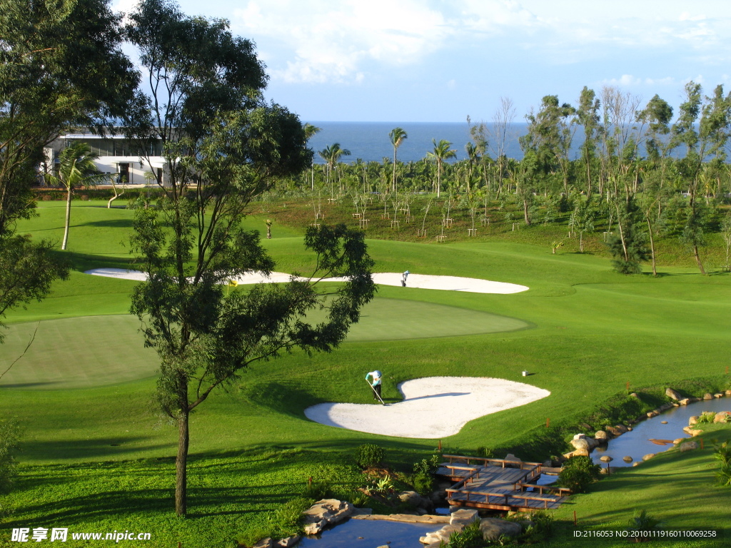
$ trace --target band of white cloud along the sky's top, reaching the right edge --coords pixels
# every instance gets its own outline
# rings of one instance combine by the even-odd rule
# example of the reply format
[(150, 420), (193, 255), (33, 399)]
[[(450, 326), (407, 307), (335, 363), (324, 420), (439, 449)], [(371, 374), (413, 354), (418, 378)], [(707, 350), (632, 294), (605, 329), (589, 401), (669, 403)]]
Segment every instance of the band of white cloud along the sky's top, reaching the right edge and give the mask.
[(383, 67), (418, 64), (447, 47), (477, 56), (494, 50), (496, 40), (534, 51), (550, 64), (633, 50), (683, 52), (708, 64), (713, 56), (731, 58), (725, 38), (731, 18), (717, 15), (724, 13), (716, 9), (721, 5), (704, 3), (702, 9), (713, 13), (708, 18), (675, 0), (662, 11), (636, 0), (246, 0), (232, 23), (260, 45), (273, 79), (357, 83)]

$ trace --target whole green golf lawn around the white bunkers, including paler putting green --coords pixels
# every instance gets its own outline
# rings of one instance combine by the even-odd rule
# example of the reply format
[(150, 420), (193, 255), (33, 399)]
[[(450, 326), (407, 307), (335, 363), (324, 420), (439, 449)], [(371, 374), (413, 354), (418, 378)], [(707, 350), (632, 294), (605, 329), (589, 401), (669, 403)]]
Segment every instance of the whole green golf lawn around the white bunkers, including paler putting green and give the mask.
[[(59, 204), (42, 203), (40, 217), (21, 224), (20, 232), (57, 238)], [(29, 350), (12, 370), (15, 381), (1, 381), (16, 386), (0, 386), (0, 414), (16, 416), (24, 428), (20, 481), (15, 492), (0, 501), (12, 508), (7, 526), (42, 521), (48, 501), (54, 516), (48, 525), (65, 519), (93, 530), (121, 528), (129, 520), (135, 528), (159, 531), (161, 540), (148, 546), (170, 546), (176, 540), (185, 541), (185, 546), (229, 546), (239, 533), (263, 523), (257, 511), (273, 510), (297, 495), (302, 471), (312, 463), (322, 463), (322, 476), (350, 477), (338, 463), (346, 463), (359, 444), (381, 444), (390, 463), (404, 468), (436, 446), (436, 440), (368, 435), (306, 419), (303, 410), (314, 403), (370, 403), (363, 376), (376, 366), (385, 373), (384, 397), (392, 401), (399, 397), (396, 384), (409, 378), (495, 376), (526, 381), (520, 372), (531, 371), (534, 375), (527, 380), (548, 389), (549, 397), (476, 419), (443, 444), (463, 451), (486, 446), (496, 449), (499, 457), (518, 447), (520, 457), (541, 460), (548, 457), (548, 446), (561, 442), (555, 436), (564, 436), (554, 426), (575, 425), (598, 404), (624, 393), (626, 383), (632, 389), (691, 386), (689, 381), (702, 378), (702, 383), (728, 385), (724, 376), (731, 355), (728, 274), (704, 277), (692, 268), (661, 266), (659, 278), (627, 277), (614, 273), (605, 258), (553, 255), (548, 246), (528, 243), (369, 240), (376, 270), (381, 272), (408, 269), (471, 276), (530, 289), (498, 295), (381, 286), (379, 298), (364, 311), (363, 324), (337, 351), (313, 357), (294, 352), (254, 365), (192, 417), (194, 465), (189, 479), (205, 488), (192, 491), (191, 517), (175, 520), (170, 498), (175, 429), (152, 403), (154, 354), (142, 348), (136, 320), (120, 316), (129, 308), (135, 282), (79, 272), (126, 267), (129, 254), (122, 243), (129, 234), (130, 212), (107, 210), (98, 207), (99, 202), (75, 202), (75, 208), (77, 204), (82, 207), (72, 212), (72, 224), (79, 226), (72, 227), (72, 245), (66, 253), (77, 270), (68, 281), (56, 283), (42, 303), (9, 313), (8, 343), (0, 346), (0, 362), (12, 362), (29, 330), (44, 320), (32, 354)], [(263, 232), (261, 217), (249, 222)], [(311, 257), (301, 236), (284, 229), (275, 229), (274, 236), (265, 245), (278, 263), (277, 270), (307, 273)], [(78, 329), (69, 327), (74, 322), (80, 322)], [(115, 322), (126, 327), (122, 330)], [(46, 330), (46, 324), (59, 327)], [(103, 337), (102, 324), (107, 326)], [(48, 359), (35, 357), (32, 370), (21, 370), (23, 360), (31, 362), (44, 348)], [(61, 376), (75, 388), (34, 384), (58, 382)], [(545, 428), (547, 418), (551, 429)], [(283, 446), (294, 449), (276, 449)], [(253, 455), (287, 451), (299, 456), (291, 463), (289, 457), (277, 460), (279, 475), (257, 476), (262, 468)], [(99, 465), (102, 462), (106, 464)], [(651, 465), (655, 464), (599, 486), (604, 490), (622, 476), (652, 470)], [(116, 472), (107, 481), (104, 471), (112, 469)], [(235, 473), (229, 473), (232, 470)], [(629, 483), (623, 485), (632, 489)], [(672, 492), (668, 489), (665, 498)], [(94, 504), (105, 495), (108, 503)], [(584, 499), (577, 498), (577, 504)], [(596, 511), (580, 514), (583, 519), (613, 508), (618, 514), (612, 520), (629, 519), (624, 517), (629, 505), (626, 494), (605, 493), (596, 501)], [(91, 506), (99, 508), (89, 512)], [(673, 508), (687, 512), (689, 506), (679, 501)], [(699, 516), (719, 520), (726, 515), (721, 508), (704, 506)], [(566, 519), (567, 514), (560, 515)], [(596, 522), (609, 519), (599, 516)], [(202, 530), (208, 536), (201, 544)], [(0, 542), (4, 534), (0, 532)]]

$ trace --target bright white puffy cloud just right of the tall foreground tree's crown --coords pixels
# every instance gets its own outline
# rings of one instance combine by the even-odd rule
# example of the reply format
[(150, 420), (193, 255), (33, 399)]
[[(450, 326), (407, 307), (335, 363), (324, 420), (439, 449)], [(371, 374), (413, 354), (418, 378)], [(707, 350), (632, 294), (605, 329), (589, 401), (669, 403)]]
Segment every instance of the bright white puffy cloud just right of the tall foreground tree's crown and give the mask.
[(251, 0), (235, 12), (244, 34), (276, 39), (293, 55), (271, 67), (287, 82), (363, 80), (367, 61), (403, 65), (439, 49), (449, 34), (439, 12), (417, 0)]

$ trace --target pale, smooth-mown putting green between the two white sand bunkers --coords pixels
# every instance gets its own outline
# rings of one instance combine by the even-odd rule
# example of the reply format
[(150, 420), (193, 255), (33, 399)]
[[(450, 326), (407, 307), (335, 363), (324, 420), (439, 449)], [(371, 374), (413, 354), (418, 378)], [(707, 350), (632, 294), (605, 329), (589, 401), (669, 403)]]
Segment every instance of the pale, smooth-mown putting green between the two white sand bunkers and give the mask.
[[(317, 321), (317, 315), (311, 321)], [(143, 347), (140, 322), (129, 315), (14, 324), (1, 346), (0, 389), (68, 389), (115, 384), (155, 374), (156, 354)], [(474, 335), (528, 327), (524, 321), (453, 306), (376, 298), (363, 309), (348, 340), (394, 340)]]

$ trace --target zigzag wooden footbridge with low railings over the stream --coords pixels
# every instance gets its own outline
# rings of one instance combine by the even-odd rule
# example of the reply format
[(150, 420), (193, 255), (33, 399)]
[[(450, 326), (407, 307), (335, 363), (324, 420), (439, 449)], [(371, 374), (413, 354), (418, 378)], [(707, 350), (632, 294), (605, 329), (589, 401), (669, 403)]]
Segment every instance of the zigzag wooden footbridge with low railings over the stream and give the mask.
[[(463, 457), (445, 454), (449, 462), (436, 471), (456, 482), (447, 489), (450, 506), (470, 506), (491, 510), (556, 509), (571, 490), (565, 487), (537, 485), (542, 473), (558, 473), (540, 463), (516, 460)], [(528, 491), (532, 489), (533, 491)]]

